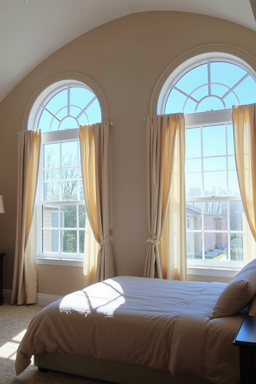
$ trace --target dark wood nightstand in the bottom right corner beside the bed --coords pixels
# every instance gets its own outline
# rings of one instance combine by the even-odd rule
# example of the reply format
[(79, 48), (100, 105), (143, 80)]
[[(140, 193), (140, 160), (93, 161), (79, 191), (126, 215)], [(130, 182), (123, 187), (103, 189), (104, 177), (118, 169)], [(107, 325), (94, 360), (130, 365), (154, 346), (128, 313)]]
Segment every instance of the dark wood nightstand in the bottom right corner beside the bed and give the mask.
[(256, 316), (245, 316), (233, 344), (239, 346), (241, 384), (255, 384)]

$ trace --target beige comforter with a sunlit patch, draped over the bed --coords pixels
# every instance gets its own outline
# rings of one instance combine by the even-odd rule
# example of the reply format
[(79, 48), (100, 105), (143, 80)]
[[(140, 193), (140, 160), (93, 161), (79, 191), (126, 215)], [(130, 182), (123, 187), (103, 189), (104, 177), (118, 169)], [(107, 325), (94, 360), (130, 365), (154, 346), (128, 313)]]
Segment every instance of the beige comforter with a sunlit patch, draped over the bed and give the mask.
[(71, 293), (32, 319), (16, 373), (48, 351), (238, 384), (239, 349), (232, 343), (244, 314), (209, 319), (225, 286), (122, 276)]

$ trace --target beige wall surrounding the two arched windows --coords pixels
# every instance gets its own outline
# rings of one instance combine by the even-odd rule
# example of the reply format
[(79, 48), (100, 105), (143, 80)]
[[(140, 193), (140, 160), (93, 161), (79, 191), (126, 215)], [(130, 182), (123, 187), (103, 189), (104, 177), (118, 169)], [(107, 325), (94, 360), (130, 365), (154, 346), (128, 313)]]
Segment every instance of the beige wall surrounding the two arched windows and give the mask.
[[(218, 44), (223, 51), (235, 46), (256, 57), (255, 39), (255, 32), (217, 18), (180, 12), (136, 13), (71, 41), (28, 74), (0, 104), (0, 193), (6, 212), (0, 216), (0, 251), (7, 253), (3, 288), (12, 289), (16, 132), (22, 129), (31, 96), (43, 82), (60, 73), (76, 72), (91, 78), (104, 94), (109, 120), (114, 123), (110, 133), (111, 229), (116, 275), (142, 276), (148, 245), (143, 118), (149, 114), (155, 84), (168, 65), (189, 50)], [(83, 286), (79, 267), (38, 265), (37, 271), (38, 293), (64, 295)]]

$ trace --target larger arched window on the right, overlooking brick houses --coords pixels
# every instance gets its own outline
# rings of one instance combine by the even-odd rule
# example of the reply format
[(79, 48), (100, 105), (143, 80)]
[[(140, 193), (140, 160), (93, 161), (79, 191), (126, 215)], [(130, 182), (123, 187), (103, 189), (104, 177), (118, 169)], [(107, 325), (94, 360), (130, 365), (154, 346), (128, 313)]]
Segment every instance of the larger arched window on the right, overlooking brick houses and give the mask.
[[(188, 265), (207, 262), (213, 266), (218, 262), (240, 266), (243, 261), (242, 204), (231, 108), (255, 102), (255, 72), (245, 61), (229, 54), (209, 53), (185, 61), (160, 90), (158, 114), (185, 113), (186, 207), (189, 215), (198, 217), (193, 230), (187, 228), (187, 238), (191, 232), (195, 238), (195, 253), (190, 252)], [(206, 227), (206, 217), (211, 218), (211, 227), (209, 218)], [(205, 223), (204, 228), (200, 222)], [(206, 237), (209, 247), (210, 236), (216, 239), (215, 248), (206, 252)], [(235, 253), (233, 238), (239, 239)]]

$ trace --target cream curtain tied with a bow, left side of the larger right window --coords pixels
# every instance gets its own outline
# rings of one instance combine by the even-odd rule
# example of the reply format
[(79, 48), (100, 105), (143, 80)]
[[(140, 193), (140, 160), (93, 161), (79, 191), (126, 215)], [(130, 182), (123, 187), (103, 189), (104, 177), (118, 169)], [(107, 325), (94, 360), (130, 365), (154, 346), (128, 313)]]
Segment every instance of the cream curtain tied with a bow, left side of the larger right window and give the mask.
[(149, 247), (144, 277), (187, 280), (184, 114), (148, 116), (146, 131)]

